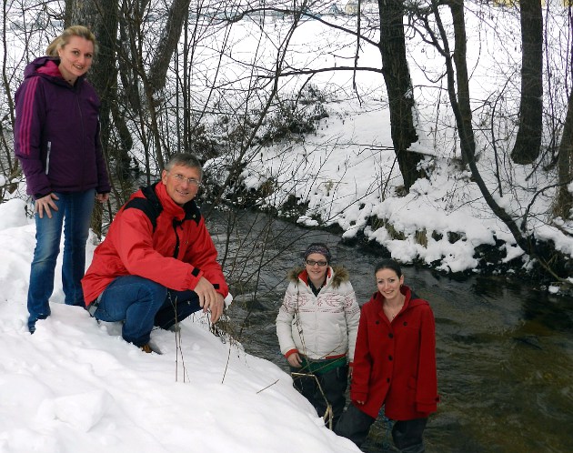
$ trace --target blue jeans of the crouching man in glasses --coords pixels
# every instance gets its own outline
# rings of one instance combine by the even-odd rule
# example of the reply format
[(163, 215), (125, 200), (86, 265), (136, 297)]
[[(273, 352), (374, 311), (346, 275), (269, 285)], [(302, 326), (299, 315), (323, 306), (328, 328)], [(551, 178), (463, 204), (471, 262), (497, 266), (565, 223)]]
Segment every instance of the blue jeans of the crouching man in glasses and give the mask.
[(172, 327), (200, 310), (195, 291), (174, 291), (144, 277), (116, 277), (97, 297), (94, 317), (125, 321), (122, 337), (141, 347), (149, 342), (154, 326)]

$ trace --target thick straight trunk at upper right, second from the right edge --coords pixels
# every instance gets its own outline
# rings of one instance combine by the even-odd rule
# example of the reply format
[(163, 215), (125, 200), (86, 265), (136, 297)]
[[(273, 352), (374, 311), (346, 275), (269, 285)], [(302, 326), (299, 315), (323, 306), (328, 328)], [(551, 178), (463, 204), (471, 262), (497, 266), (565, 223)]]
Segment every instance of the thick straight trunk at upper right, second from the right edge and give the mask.
[(521, 0), (521, 103), (511, 158), (531, 164), (539, 156), (543, 114), (543, 16), (539, 0)]

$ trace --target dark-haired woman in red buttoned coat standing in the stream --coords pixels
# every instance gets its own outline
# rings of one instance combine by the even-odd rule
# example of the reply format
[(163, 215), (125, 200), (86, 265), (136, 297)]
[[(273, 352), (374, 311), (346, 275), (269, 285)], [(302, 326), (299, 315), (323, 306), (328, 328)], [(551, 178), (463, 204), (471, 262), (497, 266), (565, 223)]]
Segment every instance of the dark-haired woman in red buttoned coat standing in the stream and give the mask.
[(393, 259), (375, 270), (377, 293), (362, 307), (354, 370), (352, 404), (336, 432), (358, 447), (384, 405), (395, 420), (392, 438), (399, 451), (425, 451), (422, 434), (437, 410), (436, 336), (432, 309), (404, 285)]

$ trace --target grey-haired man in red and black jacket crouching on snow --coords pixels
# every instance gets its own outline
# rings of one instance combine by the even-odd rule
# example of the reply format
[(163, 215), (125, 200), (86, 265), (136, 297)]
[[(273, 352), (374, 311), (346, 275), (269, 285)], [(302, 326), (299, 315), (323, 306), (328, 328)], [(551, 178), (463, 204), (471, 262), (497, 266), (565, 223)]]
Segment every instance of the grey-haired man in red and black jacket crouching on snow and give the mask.
[(151, 352), (154, 326), (169, 328), (203, 308), (216, 323), (228, 295), (216, 248), (196, 206), (196, 156), (171, 158), (155, 185), (123, 206), (82, 279), (85, 304), (102, 321), (125, 321), (124, 339)]

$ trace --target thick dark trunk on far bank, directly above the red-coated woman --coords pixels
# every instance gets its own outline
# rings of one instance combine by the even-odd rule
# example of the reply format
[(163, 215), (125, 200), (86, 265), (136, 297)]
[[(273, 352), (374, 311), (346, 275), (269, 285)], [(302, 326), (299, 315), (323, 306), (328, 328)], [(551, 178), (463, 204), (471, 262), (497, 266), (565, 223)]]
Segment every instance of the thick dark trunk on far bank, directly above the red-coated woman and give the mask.
[(378, 0), (380, 54), (390, 110), (392, 144), (407, 190), (424, 173), (417, 169), (423, 156), (408, 151), (417, 141), (414, 126), (414, 94), (406, 59), (404, 5), (402, 0)]

